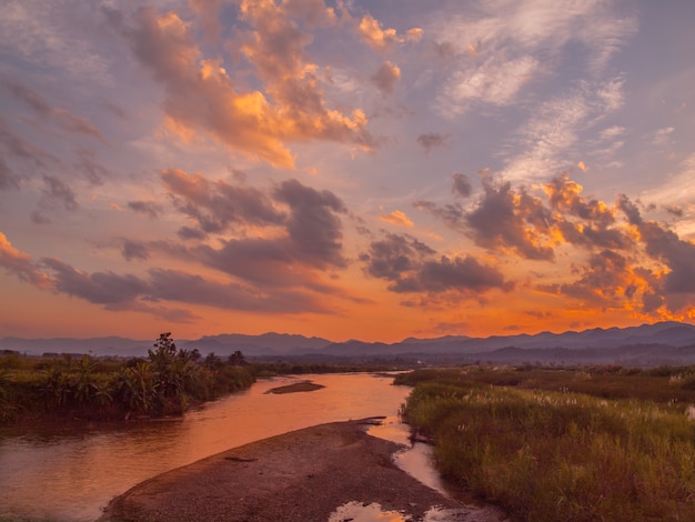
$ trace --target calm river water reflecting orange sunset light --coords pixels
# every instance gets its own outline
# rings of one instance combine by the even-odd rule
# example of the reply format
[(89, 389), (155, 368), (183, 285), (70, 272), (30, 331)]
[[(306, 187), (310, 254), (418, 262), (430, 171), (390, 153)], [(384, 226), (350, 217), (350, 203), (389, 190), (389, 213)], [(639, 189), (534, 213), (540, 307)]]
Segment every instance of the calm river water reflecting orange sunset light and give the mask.
[[(1, 521), (93, 521), (115, 495), (145, 479), (249, 442), (325, 422), (386, 416), (371, 433), (406, 441), (397, 421), (410, 388), (390, 377), (305, 375), (325, 388), (268, 394), (299, 378), (262, 380), (250, 390), (209, 402), (181, 419), (63, 425), (16, 433), (0, 430)], [(397, 456), (406, 471), (424, 468), (423, 452)], [(412, 470), (411, 470), (412, 471)], [(427, 478), (427, 475), (430, 475)], [(436, 485), (436, 484), (431, 484)]]

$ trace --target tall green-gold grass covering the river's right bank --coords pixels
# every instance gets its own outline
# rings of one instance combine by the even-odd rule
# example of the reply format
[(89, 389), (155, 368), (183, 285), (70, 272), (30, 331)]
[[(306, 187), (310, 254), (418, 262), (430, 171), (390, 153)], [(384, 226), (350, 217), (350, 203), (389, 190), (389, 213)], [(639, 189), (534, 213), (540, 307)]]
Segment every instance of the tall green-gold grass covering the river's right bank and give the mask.
[(430, 382), (404, 415), (445, 478), (515, 520), (695, 520), (684, 405)]

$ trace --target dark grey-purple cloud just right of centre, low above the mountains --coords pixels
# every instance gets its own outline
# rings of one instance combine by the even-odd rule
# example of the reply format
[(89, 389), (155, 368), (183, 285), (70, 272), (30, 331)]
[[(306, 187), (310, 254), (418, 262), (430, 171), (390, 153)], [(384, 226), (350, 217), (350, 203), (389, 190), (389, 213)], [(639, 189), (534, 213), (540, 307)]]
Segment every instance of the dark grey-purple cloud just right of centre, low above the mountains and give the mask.
[(482, 293), (491, 289), (508, 291), (513, 287), (497, 269), (471, 255), (435, 254), (410, 235), (386, 234), (373, 241), (360, 259), (365, 263), (365, 273), (385, 279), (390, 282), (387, 289), (396, 293)]

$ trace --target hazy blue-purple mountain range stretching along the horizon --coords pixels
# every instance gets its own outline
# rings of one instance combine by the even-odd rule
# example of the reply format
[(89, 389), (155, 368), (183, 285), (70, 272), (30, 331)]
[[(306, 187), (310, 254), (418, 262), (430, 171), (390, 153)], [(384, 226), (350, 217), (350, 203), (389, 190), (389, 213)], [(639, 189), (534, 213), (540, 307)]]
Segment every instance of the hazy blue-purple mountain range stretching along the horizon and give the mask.
[[(203, 355), (226, 357), (242, 351), (250, 360), (346, 362), (412, 360), (423, 363), (621, 363), (624, 365), (695, 364), (695, 325), (659, 322), (629, 328), (592, 329), (564, 333), (470, 338), (404, 339), (391, 344), (351, 340), (332, 342), (296, 334), (225, 333), (197, 340), (177, 340), (179, 348), (198, 349)], [(0, 340), (0, 350), (27, 354), (90, 353), (92, 355), (145, 355), (153, 340), (119, 337), (94, 339)]]

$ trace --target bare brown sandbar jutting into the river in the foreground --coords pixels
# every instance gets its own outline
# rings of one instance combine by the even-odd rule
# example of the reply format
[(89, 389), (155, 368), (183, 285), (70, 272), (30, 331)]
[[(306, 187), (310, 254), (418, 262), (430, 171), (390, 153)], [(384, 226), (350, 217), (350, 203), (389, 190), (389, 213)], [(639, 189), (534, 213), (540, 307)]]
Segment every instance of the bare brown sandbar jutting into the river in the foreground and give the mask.
[(351, 502), (377, 503), (402, 520), (425, 520), (433, 506), (445, 510), (436, 520), (505, 520), (417, 482), (393, 463), (401, 446), (369, 435), (365, 424), (321, 424), (212, 455), (137, 485), (99, 520), (325, 522)]

